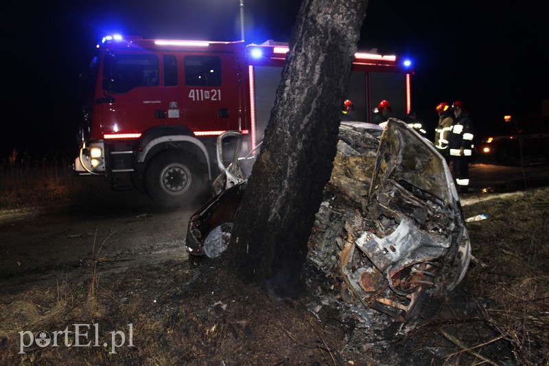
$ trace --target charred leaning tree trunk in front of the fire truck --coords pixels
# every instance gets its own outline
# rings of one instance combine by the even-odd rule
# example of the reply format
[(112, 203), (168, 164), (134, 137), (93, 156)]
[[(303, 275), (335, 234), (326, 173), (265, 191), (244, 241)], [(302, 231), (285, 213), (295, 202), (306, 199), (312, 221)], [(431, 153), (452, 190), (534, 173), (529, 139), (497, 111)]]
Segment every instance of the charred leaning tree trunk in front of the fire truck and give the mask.
[(244, 282), (301, 290), (314, 215), (336, 155), (367, 0), (303, 0), (229, 258)]

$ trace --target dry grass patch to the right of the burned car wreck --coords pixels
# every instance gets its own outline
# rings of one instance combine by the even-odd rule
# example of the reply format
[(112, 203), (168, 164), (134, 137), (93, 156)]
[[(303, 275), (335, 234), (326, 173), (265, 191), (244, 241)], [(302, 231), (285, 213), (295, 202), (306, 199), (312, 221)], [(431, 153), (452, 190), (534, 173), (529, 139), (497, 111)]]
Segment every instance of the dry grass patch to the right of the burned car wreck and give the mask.
[(467, 289), (485, 319), (511, 343), (515, 361), (549, 362), (549, 189), (521, 192), (464, 207), (465, 216), (489, 218), (467, 225), (479, 263)]

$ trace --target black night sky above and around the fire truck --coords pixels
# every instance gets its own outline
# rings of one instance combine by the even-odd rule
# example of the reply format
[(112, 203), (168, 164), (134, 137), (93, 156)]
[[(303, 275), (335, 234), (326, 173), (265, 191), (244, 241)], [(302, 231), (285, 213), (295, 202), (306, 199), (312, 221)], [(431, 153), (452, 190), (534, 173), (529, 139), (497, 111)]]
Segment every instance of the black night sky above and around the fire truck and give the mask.
[[(85, 71), (104, 34), (240, 39), (239, 0), (19, 1), (3, 22), (0, 159), (20, 151), (70, 157)], [(298, 0), (244, 0), (246, 42), (288, 41)], [(360, 49), (414, 61), (412, 108), (463, 100), (477, 130), (506, 114), (539, 113), (549, 99), (549, 2), (369, 1)], [(507, 2), (505, 2), (507, 3)], [(496, 5), (497, 4), (497, 5)], [(397, 116), (404, 117), (404, 116)]]

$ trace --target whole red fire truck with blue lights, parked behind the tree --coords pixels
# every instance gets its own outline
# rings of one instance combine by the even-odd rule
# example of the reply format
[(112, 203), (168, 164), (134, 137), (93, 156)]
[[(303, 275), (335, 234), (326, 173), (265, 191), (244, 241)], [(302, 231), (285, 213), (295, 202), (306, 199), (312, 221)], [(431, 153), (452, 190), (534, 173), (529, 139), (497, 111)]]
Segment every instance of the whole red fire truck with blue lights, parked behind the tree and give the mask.
[[(218, 174), (215, 142), (226, 130), (261, 141), (288, 44), (105, 37), (91, 62), (77, 174), (113, 188), (132, 182), (161, 205), (196, 196)], [(348, 97), (352, 119), (371, 122), (379, 100), (410, 111), (410, 75), (396, 56), (358, 52)]]

